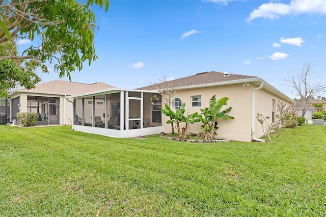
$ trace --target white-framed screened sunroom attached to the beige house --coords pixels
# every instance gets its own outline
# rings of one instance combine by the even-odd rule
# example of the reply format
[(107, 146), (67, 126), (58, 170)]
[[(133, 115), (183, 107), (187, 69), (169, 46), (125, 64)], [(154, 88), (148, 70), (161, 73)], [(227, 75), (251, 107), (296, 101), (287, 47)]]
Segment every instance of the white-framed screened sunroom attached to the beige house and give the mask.
[(106, 89), (67, 96), (73, 103), (72, 129), (116, 138), (161, 132), (161, 111), (152, 103), (155, 91)]

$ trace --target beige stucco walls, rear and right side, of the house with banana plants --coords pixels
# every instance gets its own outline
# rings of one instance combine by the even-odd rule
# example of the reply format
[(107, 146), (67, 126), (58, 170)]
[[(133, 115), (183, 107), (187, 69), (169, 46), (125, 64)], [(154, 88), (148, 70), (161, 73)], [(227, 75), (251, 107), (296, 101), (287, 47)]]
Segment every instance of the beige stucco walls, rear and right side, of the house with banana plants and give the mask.
[[(226, 138), (234, 141), (252, 141), (252, 90), (257, 86), (242, 86), (242, 84), (216, 86), (208, 88), (197, 88), (180, 90), (173, 95), (173, 98), (180, 98), (182, 102), (185, 102), (185, 115), (190, 115), (195, 112), (200, 114), (200, 108), (209, 107), (210, 98), (215, 95), (216, 100), (222, 97), (228, 97), (228, 105), (224, 105), (222, 110), (225, 110), (229, 106), (232, 110), (228, 113), (229, 116), (233, 116), (233, 120), (218, 120), (219, 129), (216, 130), (218, 137)], [(201, 107), (191, 106), (191, 97), (201, 95)], [(257, 90), (256, 96), (256, 112), (271, 116), (272, 111), (272, 99), (281, 100), (279, 97), (266, 92), (265, 90)], [(284, 100), (283, 100), (284, 102)], [(172, 106), (171, 106), (172, 107)], [(171, 132), (170, 124), (166, 124), (168, 117), (162, 115), (162, 131)], [(183, 123), (182, 123), (183, 124)], [(201, 123), (191, 124), (188, 132), (198, 133), (200, 131)], [(181, 126), (184, 127), (184, 124)], [(256, 137), (260, 137), (262, 133), (261, 125), (255, 120), (255, 133)], [(176, 130), (175, 130), (176, 132)]]

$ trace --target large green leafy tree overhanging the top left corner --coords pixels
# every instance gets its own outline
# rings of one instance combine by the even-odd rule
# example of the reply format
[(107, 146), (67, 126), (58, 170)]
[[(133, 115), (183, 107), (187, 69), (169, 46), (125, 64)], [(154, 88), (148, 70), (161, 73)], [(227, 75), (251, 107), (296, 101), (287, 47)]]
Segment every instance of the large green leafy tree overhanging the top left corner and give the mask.
[[(0, 5), (0, 95), (17, 85), (32, 89), (40, 82), (35, 70), (48, 72), (46, 64), (54, 64), (60, 77), (83, 62), (95, 61), (95, 16), (90, 6), (108, 9), (108, 0), (4, 0)], [(18, 52), (18, 40), (36, 45)]]

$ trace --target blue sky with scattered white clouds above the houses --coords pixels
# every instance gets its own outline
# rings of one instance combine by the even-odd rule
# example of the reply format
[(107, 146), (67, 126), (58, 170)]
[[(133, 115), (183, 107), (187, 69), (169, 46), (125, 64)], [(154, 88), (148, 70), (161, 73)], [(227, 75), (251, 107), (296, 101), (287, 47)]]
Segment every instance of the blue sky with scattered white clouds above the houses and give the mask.
[(259, 76), (294, 98), (284, 80), (310, 62), (309, 82), (326, 85), (324, 0), (111, 0), (106, 13), (93, 11), (98, 60), (73, 82), (134, 89), (162, 76), (228, 71)]

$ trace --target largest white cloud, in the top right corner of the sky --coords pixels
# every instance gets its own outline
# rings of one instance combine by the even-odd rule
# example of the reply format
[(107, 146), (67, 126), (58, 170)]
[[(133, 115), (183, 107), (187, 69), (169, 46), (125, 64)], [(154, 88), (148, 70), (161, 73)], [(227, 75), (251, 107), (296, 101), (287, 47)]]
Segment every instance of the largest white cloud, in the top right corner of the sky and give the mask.
[(280, 16), (298, 14), (326, 14), (326, 1), (323, 0), (291, 0), (290, 4), (265, 3), (250, 13), (248, 21), (262, 17), (279, 19)]

